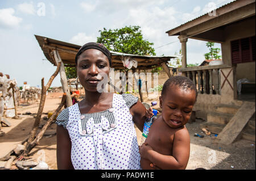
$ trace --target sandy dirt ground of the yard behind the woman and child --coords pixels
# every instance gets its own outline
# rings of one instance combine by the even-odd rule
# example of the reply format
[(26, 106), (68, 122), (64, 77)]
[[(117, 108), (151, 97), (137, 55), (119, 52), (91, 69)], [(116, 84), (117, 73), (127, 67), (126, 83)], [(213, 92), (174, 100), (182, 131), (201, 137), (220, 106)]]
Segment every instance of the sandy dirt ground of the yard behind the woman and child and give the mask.
[[(61, 95), (62, 93), (48, 94), (43, 112), (54, 111), (60, 103)], [(145, 99), (144, 102), (151, 103), (152, 100), (158, 100), (158, 98), (149, 96), (149, 99)], [(154, 106), (155, 108), (159, 105), (159, 101), (157, 102), (158, 104)], [(22, 116), (22, 119), (7, 119), (10, 121), (11, 127), (2, 127), (2, 131), (5, 132), (5, 135), (0, 137), (0, 158), (9, 153), (17, 144), (28, 137), (32, 125), (34, 124), (34, 117), (32, 115), (22, 115), (22, 113), (28, 111), (37, 113), (38, 106), (39, 102), (31, 104), (30, 106), (19, 106), (18, 113), (21, 113), (20, 116)], [(43, 114), (42, 117), (44, 116), (47, 115)], [(255, 170), (255, 142), (239, 140), (229, 146), (214, 144), (214, 134), (207, 136), (202, 133), (200, 123), (203, 123), (202, 120), (197, 119), (196, 122), (187, 124), (191, 136), (191, 151), (187, 169)], [(54, 170), (57, 169), (56, 124), (52, 124), (51, 127), (48, 128), (47, 133), (46, 136), (43, 136), (40, 144), (32, 149), (29, 156), (34, 158), (35, 161), (45, 158), (49, 169)], [(204, 135), (204, 137), (195, 137), (195, 133)], [(141, 132), (139, 132), (138, 129), (137, 137), (140, 141)]]

